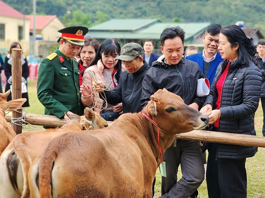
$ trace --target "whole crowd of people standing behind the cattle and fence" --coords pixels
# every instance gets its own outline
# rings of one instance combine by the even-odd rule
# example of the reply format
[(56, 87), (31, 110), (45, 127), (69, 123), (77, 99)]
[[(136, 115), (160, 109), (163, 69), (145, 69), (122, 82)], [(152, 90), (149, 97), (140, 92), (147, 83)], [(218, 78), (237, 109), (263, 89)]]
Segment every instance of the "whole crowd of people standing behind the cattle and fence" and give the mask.
[[(256, 47), (239, 26), (212, 24), (203, 35), (203, 51), (189, 46), (185, 53), (184, 30), (179, 26), (166, 28), (160, 37), (161, 57), (152, 52), (151, 40), (143, 46), (127, 43), (120, 47), (117, 38), (100, 44), (84, 36), (88, 29), (83, 26), (58, 32), (59, 47), (39, 67), (37, 96), (45, 115), (68, 121), (66, 112), (81, 116), (84, 107), (90, 107), (113, 121), (123, 113), (140, 112), (154, 92), (166, 88), (209, 116), (208, 131), (256, 135), (254, 113), (260, 99), (265, 123), (265, 41)], [(10, 54), (14, 47), (21, 49), (19, 43), (13, 43)], [(6, 90), (12, 84), (10, 54), (1, 64), (7, 76)], [(27, 60), (22, 58), (22, 82), (26, 85), (28, 73)], [(198, 97), (197, 81), (201, 78), (209, 79), (210, 93)], [(265, 125), (262, 132), (265, 136)], [(161, 197), (198, 196), (205, 174), (205, 150), (209, 198), (247, 197), (245, 162), (255, 155), (257, 147), (201, 146), (198, 141), (180, 139), (175, 139), (163, 155), (167, 177), (162, 176)]]

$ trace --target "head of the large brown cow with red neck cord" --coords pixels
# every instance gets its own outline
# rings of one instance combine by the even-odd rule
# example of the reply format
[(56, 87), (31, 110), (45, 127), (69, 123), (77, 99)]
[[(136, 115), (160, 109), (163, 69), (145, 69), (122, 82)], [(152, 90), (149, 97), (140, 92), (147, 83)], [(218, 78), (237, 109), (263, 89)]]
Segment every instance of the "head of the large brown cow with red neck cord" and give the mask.
[(151, 95), (146, 108), (159, 128), (169, 134), (200, 130), (209, 122), (208, 116), (187, 106), (181, 97), (165, 88)]

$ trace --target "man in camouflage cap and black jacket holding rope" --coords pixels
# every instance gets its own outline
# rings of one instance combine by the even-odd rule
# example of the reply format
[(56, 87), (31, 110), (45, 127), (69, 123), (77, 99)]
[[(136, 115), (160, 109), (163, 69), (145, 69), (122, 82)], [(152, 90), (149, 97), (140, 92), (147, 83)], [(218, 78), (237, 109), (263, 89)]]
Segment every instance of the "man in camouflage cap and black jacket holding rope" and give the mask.
[[(117, 59), (123, 61), (127, 71), (120, 74), (120, 81), (115, 89), (104, 91), (109, 104), (122, 102), (123, 113), (136, 113), (142, 110), (140, 106), (142, 81), (146, 71), (150, 68), (142, 55), (141, 45), (137, 43), (123, 45)], [(100, 85), (96, 82), (93, 82), (93, 86), (96, 91), (102, 92)]]

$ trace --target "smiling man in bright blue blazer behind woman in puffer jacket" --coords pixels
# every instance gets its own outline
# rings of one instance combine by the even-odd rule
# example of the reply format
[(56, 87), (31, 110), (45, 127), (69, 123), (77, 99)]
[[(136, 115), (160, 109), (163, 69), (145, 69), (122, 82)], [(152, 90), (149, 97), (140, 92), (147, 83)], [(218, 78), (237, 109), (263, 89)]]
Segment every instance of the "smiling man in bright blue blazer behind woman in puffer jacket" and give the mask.
[(204, 76), (209, 79), (210, 85), (214, 80), (217, 66), (223, 61), (217, 49), (221, 28), (219, 24), (208, 26), (202, 37), (204, 50), (198, 54), (192, 54), (186, 57), (186, 59), (198, 63)]

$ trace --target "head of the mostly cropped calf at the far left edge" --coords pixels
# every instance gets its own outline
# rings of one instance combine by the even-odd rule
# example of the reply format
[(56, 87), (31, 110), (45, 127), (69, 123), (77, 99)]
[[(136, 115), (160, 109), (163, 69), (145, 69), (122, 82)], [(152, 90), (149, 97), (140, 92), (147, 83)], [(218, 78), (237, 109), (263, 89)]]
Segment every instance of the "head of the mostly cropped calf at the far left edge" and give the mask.
[(10, 89), (5, 93), (0, 93), (0, 109), (4, 112), (7, 109), (17, 110), (19, 109), (26, 101), (26, 98), (19, 98), (16, 100), (11, 100), (7, 102), (7, 97), (10, 94)]

